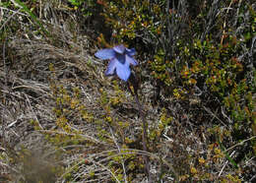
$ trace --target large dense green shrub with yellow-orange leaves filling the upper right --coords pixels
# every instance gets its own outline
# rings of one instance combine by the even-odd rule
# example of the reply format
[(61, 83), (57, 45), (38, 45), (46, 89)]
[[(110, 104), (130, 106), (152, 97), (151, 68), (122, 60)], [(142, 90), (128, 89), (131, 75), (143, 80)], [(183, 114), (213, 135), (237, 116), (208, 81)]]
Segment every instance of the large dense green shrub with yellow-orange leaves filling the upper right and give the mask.
[[(139, 58), (146, 59), (142, 78), (157, 81), (157, 94), (179, 103), (199, 99), (199, 110), (190, 113), (195, 123), (206, 107), (219, 111), (213, 123), (228, 129), (231, 136), (223, 140), (228, 147), (255, 135), (255, 10), (251, 1), (216, 2), (202, 1), (192, 13), (186, 3), (106, 0), (102, 16), (112, 29), (112, 43), (135, 46)], [(189, 106), (185, 110), (191, 111)], [(243, 146), (249, 151), (239, 152), (237, 162), (255, 149), (255, 142)]]

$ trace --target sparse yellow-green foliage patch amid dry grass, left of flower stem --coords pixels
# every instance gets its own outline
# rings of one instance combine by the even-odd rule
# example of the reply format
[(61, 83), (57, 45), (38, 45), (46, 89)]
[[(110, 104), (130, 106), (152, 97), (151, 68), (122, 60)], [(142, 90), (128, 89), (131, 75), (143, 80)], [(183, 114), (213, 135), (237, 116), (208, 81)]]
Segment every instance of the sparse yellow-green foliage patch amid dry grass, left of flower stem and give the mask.
[(87, 111), (86, 105), (81, 100), (80, 90), (73, 88), (72, 91), (67, 91), (63, 85), (58, 84), (55, 79), (54, 66), (49, 66), (52, 72), (51, 91), (55, 101), (52, 110), (55, 114), (56, 130), (45, 132), (49, 133), (46, 137), (49, 141), (56, 145), (71, 145), (79, 144), (83, 141), (80, 130), (74, 127), (78, 121), (91, 123), (94, 121), (94, 115)]

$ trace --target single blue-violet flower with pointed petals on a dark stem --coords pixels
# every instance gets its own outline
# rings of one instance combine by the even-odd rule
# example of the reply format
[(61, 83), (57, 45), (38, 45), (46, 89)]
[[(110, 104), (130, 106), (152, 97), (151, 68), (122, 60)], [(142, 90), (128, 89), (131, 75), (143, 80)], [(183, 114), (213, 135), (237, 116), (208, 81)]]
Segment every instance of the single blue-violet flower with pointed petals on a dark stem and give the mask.
[(114, 75), (127, 82), (131, 75), (130, 64), (136, 66), (138, 62), (133, 58), (136, 54), (134, 48), (128, 49), (123, 44), (114, 46), (113, 48), (101, 49), (96, 52), (96, 57), (99, 59), (109, 59), (105, 75)]

